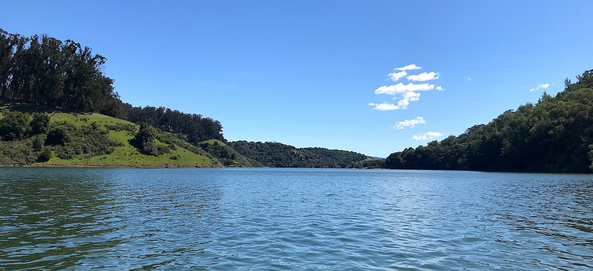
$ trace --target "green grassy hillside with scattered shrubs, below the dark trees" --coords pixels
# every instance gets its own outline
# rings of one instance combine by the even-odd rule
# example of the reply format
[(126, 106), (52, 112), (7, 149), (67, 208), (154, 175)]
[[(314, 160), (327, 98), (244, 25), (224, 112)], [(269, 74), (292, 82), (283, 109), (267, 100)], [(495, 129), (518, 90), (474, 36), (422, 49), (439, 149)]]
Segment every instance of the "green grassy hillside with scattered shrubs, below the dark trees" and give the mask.
[[(203, 149), (182, 141), (171, 133), (159, 132), (156, 144), (163, 153), (146, 155), (130, 144), (138, 132), (138, 125), (97, 113), (61, 113), (52, 107), (0, 100), (0, 118), (15, 112), (30, 117), (34, 112), (49, 113), (50, 127), (66, 127), (71, 141), (63, 145), (39, 143), (45, 134), (22, 136), (0, 141), (0, 165), (71, 166), (71, 167), (223, 167), (215, 157)], [(1, 129), (1, 128), (0, 128)], [(52, 128), (53, 129), (53, 128)], [(6, 131), (0, 131), (6, 132)], [(50, 130), (47, 134), (51, 133)], [(92, 137), (91, 135), (94, 135)], [(97, 143), (98, 142), (98, 143)], [(36, 144), (41, 144), (39, 148)], [(102, 144), (102, 145), (101, 145)], [(100, 148), (94, 148), (101, 145)], [(51, 151), (49, 160), (40, 161), (43, 150)]]

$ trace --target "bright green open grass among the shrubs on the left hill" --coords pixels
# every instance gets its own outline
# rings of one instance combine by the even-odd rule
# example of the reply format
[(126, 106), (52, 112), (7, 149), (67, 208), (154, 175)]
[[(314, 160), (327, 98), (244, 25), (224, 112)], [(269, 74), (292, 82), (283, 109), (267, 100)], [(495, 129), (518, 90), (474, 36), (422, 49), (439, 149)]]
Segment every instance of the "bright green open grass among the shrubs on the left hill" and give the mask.
[[(77, 127), (91, 125), (96, 123), (101, 129), (107, 130), (106, 125), (115, 123), (131, 124), (126, 120), (116, 119), (103, 114), (76, 114), (76, 113), (50, 113), (52, 122), (66, 121)], [(135, 125), (138, 128), (138, 125)], [(85, 158), (84, 155), (72, 160), (62, 160), (53, 157), (47, 162), (40, 162), (36, 166), (90, 166), (90, 167), (221, 167), (218, 161), (212, 161), (204, 155), (195, 154), (187, 149), (177, 146), (176, 150), (158, 157), (141, 154), (137, 148), (129, 144), (129, 139), (133, 138), (132, 133), (127, 130), (116, 132), (109, 130), (109, 137), (123, 144), (118, 146), (112, 154), (100, 155), (97, 157)], [(161, 144), (158, 142), (157, 144)], [(170, 157), (176, 156), (177, 160)]]

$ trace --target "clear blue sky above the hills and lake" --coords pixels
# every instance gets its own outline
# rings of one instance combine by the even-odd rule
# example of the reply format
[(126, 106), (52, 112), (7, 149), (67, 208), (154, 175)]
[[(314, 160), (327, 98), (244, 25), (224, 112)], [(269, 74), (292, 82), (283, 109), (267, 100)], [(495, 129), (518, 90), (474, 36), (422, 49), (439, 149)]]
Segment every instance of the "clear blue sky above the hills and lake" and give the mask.
[[(591, 1), (4, 1), (0, 8), (9, 33), (72, 39), (106, 56), (107, 76), (133, 106), (212, 117), (230, 141), (378, 157), (463, 133), (537, 101), (546, 88), (530, 90), (540, 84), (555, 94), (565, 78), (593, 69)], [(411, 64), (422, 69), (388, 76)]]

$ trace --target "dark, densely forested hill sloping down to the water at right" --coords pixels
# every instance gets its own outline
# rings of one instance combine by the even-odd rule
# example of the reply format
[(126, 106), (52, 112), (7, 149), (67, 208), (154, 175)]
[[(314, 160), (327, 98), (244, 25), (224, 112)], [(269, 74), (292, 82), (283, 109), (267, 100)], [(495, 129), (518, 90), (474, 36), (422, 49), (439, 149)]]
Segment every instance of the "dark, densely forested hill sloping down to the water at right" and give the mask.
[(395, 152), (385, 167), (591, 173), (593, 160), (593, 70), (566, 79), (555, 97), (507, 110), (487, 125), (470, 127), (416, 149)]

